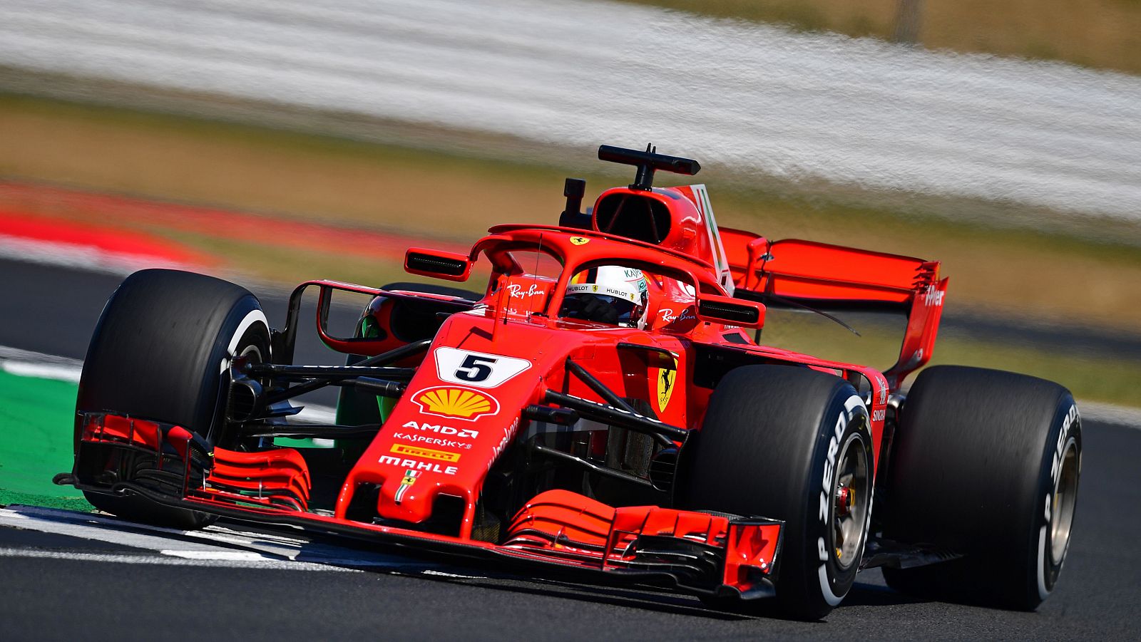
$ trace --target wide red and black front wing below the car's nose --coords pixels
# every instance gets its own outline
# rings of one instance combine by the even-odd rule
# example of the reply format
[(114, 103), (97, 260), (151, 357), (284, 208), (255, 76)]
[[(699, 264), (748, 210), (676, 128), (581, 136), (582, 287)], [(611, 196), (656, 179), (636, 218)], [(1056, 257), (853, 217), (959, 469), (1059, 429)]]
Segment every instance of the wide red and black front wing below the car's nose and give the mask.
[(162, 422), (106, 413), (83, 417), (71, 473), (56, 482), (135, 494), (170, 506), (289, 525), (467, 556), (573, 569), (606, 580), (695, 595), (775, 593), (784, 522), (657, 506), (613, 507), (548, 490), (518, 511), (496, 542), (367, 523), (307, 510), (309, 471), (293, 448), (237, 453)]

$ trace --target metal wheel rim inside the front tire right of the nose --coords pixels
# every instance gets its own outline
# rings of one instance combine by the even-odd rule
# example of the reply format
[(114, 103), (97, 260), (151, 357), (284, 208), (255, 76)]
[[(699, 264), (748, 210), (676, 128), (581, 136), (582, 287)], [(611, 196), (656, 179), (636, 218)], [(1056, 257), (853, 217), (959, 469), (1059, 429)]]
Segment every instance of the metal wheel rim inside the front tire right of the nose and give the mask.
[(867, 464), (863, 436), (849, 434), (840, 452), (832, 491), (832, 554), (842, 570), (851, 568), (864, 550), (871, 499)]

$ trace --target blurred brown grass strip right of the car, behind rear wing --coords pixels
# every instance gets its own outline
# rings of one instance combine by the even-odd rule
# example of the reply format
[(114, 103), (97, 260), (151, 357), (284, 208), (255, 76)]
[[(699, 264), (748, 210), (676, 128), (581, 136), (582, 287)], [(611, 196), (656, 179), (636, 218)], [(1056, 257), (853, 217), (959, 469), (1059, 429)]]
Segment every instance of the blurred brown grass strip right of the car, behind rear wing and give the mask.
[[(714, 193), (715, 196), (715, 193)], [(950, 277), (948, 309), (1030, 316), (1045, 323), (1141, 330), (1141, 251), (1099, 252), (1020, 230), (944, 221), (885, 220), (874, 212), (820, 212), (783, 202), (715, 201), (718, 221), (770, 238), (811, 238), (936, 259)]]

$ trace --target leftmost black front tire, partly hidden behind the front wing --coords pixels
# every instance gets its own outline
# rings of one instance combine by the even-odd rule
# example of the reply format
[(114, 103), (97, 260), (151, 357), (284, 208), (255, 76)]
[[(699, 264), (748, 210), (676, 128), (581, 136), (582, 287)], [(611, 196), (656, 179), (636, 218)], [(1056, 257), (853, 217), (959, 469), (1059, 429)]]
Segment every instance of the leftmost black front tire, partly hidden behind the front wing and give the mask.
[[(81, 413), (108, 411), (175, 423), (221, 445), (230, 358), (258, 352), (269, 360), (269, 325), (248, 290), (210, 276), (141, 270), (111, 295), (83, 361), (75, 403)], [(215, 515), (133, 495), (84, 491), (100, 511), (181, 529)]]

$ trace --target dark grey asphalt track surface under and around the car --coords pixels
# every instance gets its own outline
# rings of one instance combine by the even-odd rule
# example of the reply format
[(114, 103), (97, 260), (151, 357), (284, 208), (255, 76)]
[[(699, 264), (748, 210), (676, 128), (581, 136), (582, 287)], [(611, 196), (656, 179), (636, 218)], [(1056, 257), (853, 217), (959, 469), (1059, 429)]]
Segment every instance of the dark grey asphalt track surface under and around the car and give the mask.
[[(8, 261), (0, 275), (0, 344), (74, 358), (119, 281)], [(280, 319), (275, 301), (266, 307)], [(299, 357), (335, 360), (319, 347)], [(785, 621), (236, 522), (191, 535), (11, 506), (0, 511), (0, 637), (1136, 640), (1141, 426), (1087, 421), (1084, 431), (1066, 570), (1033, 613), (915, 601), (866, 571), (826, 621)]]

